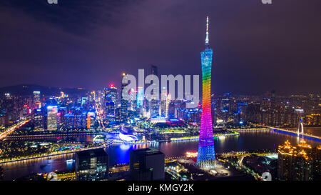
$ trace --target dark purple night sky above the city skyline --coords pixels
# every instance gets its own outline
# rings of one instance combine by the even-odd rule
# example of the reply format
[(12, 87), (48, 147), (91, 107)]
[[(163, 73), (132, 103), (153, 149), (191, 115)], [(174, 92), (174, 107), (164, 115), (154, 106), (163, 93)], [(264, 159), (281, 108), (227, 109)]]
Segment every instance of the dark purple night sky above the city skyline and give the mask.
[(214, 93), (321, 92), (321, 1), (0, 1), (0, 87), (101, 89), (121, 73), (200, 74), (210, 16)]

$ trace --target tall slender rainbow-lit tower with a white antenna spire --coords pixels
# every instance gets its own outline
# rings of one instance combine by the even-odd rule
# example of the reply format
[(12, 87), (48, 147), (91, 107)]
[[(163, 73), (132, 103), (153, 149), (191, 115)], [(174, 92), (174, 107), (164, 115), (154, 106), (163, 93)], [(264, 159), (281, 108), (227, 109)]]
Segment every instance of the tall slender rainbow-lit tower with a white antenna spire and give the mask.
[(215, 151), (213, 141), (212, 110), (210, 104), (210, 75), (212, 71), (213, 49), (208, 43), (208, 17), (206, 18), (205, 51), (200, 52), (202, 63), (202, 116), (200, 119), (200, 140), (198, 142), (198, 166), (213, 168), (215, 166)]

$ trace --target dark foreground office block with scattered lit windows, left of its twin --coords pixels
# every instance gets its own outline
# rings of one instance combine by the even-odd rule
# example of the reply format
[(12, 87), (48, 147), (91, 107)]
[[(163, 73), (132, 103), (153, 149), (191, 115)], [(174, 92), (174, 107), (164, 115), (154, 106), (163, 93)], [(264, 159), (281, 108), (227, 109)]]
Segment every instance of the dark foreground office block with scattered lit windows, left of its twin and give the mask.
[(108, 154), (104, 149), (76, 152), (76, 179), (103, 181), (108, 178)]

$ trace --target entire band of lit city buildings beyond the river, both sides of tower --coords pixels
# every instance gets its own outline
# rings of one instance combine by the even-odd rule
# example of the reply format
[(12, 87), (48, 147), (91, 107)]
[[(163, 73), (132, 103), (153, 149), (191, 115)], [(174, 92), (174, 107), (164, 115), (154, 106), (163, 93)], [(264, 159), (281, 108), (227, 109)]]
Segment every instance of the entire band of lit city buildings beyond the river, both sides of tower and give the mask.
[[(157, 74), (157, 66), (152, 66)], [(123, 74), (125, 76), (126, 74)], [(123, 89), (125, 85), (121, 86)], [(200, 125), (201, 105), (186, 108), (184, 99), (170, 100), (167, 89), (160, 91), (166, 99), (148, 101), (143, 88), (131, 89), (136, 98), (123, 99), (121, 90), (111, 84), (101, 91), (85, 95), (45, 95), (34, 91), (29, 96), (0, 97), (0, 126), (10, 126), (23, 117), (30, 116), (37, 131), (59, 129), (99, 129), (102, 124), (126, 122), (137, 117), (151, 119), (179, 119), (186, 124)], [(161, 94), (160, 93), (160, 94)], [(242, 125), (246, 122), (267, 126), (297, 127), (300, 119), (305, 126), (321, 125), (321, 101), (319, 95), (276, 96), (275, 91), (262, 96), (212, 95), (213, 125), (223, 123)]]

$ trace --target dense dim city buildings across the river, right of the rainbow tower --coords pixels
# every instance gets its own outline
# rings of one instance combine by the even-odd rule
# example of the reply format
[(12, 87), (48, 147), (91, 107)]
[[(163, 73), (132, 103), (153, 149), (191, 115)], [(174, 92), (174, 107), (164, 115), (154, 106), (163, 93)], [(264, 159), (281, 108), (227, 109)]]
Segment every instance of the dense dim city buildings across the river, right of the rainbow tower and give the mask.
[(212, 104), (217, 118), (243, 124), (245, 121), (267, 126), (297, 127), (321, 125), (320, 96), (276, 96), (275, 91), (263, 96), (214, 96)]

